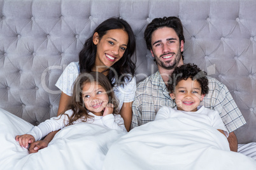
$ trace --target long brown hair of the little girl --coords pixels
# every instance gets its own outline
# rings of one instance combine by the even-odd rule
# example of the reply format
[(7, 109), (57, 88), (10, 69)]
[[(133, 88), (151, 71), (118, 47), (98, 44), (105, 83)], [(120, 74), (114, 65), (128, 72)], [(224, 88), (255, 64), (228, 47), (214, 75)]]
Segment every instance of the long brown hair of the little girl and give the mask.
[[(68, 107), (65, 109), (65, 111), (69, 109), (73, 111), (73, 114), (70, 117), (68, 116), (69, 122), (66, 126), (73, 124), (73, 122), (77, 121), (78, 119), (86, 122), (88, 118), (92, 118), (92, 116), (88, 114), (89, 110), (85, 108), (85, 103), (83, 102), (82, 96), (83, 87), (88, 82), (97, 82), (97, 84), (105, 89), (106, 93), (108, 94), (108, 103), (112, 103), (114, 105), (113, 114), (118, 114), (118, 101), (115, 98), (115, 93), (108, 78), (100, 72), (83, 73), (78, 75), (76, 78), (73, 86), (73, 96), (71, 96), (71, 101)], [(62, 114), (65, 113), (63, 112)]]

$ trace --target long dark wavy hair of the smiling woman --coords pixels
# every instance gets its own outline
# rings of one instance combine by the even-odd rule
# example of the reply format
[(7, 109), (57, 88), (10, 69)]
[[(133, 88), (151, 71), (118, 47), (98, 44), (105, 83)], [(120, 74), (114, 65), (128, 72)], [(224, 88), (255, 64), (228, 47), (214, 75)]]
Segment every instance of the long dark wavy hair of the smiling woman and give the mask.
[[(97, 32), (99, 34), (99, 40), (106, 34), (108, 30), (113, 29), (123, 29), (127, 32), (129, 36), (129, 41), (127, 44), (127, 48), (125, 49), (125, 53), (118, 60), (118, 62), (114, 63), (111, 66), (111, 69), (108, 69), (108, 79), (111, 82), (111, 85), (114, 86), (115, 84), (123, 85), (125, 80), (130, 80), (127, 74), (131, 74), (134, 76), (134, 70), (136, 68), (136, 57), (133, 56), (135, 48), (136, 48), (136, 41), (135, 36), (132, 32), (131, 26), (125, 20), (121, 18), (109, 18), (101, 23), (92, 33), (92, 36), (85, 41), (82, 51), (79, 54), (79, 66), (80, 66), (80, 73), (83, 72), (92, 72), (92, 68), (95, 65), (96, 59), (96, 52), (97, 46), (93, 42), (94, 33)], [(113, 79), (115, 78), (115, 84), (112, 84)]]

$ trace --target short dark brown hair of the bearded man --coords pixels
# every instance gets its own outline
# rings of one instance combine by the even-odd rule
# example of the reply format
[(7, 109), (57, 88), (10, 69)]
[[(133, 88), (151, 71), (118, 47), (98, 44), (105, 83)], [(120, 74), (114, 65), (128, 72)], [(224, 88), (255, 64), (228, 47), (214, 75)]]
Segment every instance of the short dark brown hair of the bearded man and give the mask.
[[(152, 45), (151, 45), (152, 33), (155, 30), (160, 29), (162, 27), (169, 27), (171, 29), (174, 29), (174, 31), (176, 32), (176, 34), (180, 39), (180, 43), (181, 43), (181, 40), (183, 40), (183, 42), (185, 43), (185, 37), (183, 35), (183, 26), (180, 18), (177, 18), (176, 16), (169, 16), (169, 17), (164, 16), (163, 18), (153, 19), (152, 22), (150, 22), (146, 27), (144, 32), (146, 48), (148, 48), (149, 50), (152, 49)], [(182, 59), (184, 60), (184, 56), (182, 54), (183, 54), (183, 51), (181, 51), (181, 56), (182, 56)]]

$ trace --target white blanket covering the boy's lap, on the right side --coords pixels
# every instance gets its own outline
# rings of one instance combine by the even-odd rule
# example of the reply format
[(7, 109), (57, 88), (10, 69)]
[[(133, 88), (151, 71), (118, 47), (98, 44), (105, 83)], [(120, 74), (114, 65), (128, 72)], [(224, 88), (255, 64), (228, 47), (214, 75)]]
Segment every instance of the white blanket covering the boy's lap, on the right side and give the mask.
[(256, 169), (256, 162), (231, 152), (224, 134), (187, 118), (149, 122), (115, 142), (103, 169)]

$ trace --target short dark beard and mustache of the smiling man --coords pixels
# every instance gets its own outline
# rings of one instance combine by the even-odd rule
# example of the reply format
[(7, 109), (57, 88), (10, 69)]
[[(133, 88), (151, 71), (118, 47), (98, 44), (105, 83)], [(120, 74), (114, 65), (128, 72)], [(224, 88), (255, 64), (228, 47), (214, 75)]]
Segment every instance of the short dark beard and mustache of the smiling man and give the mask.
[[(172, 55), (175, 55), (175, 53), (167, 53), (167, 54), (164, 54), (164, 55), (168, 55), (168, 54), (172, 54)], [(154, 55), (155, 56), (155, 55)], [(162, 56), (162, 55), (161, 55)], [(160, 57), (161, 57), (160, 56)], [(176, 54), (176, 58), (175, 60), (173, 61), (173, 63), (171, 63), (171, 60), (170, 61), (167, 61), (167, 62), (162, 62), (159, 58), (160, 57), (155, 57), (155, 61), (157, 62), (157, 65), (159, 65), (160, 67), (166, 69), (166, 70), (171, 70), (171, 69), (174, 69), (175, 67), (178, 66), (178, 63), (180, 62), (180, 59), (181, 59), (181, 49), (178, 50), (178, 53)]]

